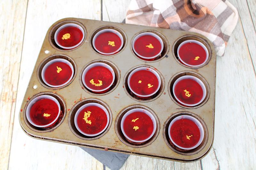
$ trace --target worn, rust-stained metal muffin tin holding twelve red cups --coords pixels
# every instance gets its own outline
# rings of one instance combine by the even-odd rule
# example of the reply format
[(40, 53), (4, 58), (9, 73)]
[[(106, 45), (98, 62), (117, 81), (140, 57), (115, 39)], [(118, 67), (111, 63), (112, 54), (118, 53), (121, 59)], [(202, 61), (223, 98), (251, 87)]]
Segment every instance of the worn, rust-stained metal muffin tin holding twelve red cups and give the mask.
[[(66, 23), (76, 23), (82, 26), (85, 31), (84, 41), (74, 49), (61, 49), (54, 42), (55, 31), (59, 26)], [(124, 38), (123, 48), (114, 55), (101, 55), (92, 47), (93, 35), (104, 28), (118, 30)], [(143, 61), (132, 50), (133, 38), (146, 31), (156, 33), (164, 42), (163, 52), (155, 61)], [(185, 66), (178, 60), (178, 45), (188, 39), (200, 41), (208, 48), (209, 59), (200, 68)], [(74, 77), (67, 85), (52, 88), (42, 81), (40, 76), (42, 68), (52, 58), (64, 58), (73, 65)], [(85, 66), (96, 61), (108, 63), (116, 74), (114, 84), (104, 94), (95, 94), (87, 90), (81, 80)], [(128, 74), (139, 66), (157, 70), (162, 81), (159, 91), (147, 100), (140, 100), (133, 95), (126, 82)], [(174, 100), (171, 88), (173, 82), (182, 75), (193, 75), (204, 82), (207, 94), (205, 100), (198, 106), (186, 107)], [(214, 47), (207, 38), (198, 33), (89, 19), (65, 18), (54, 23), (46, 33), (21, 106), (20, 124), (26, 134), (37, 139), (152, 158), (193, 162), (202, 159), (210, 151), (213, 144), (215, 76), (216, 54)], [(49, 129), (34, 127), (26, 118), (29, 101), (42, 94), (55, 97), (60, 102), (62, 111), (58, 122)], [(110, 117), (108, 128), (96, 137), (83, 136), (74, 125), (76, 110), (88, 102), (102, 104), (108, 110)], [(156, 132), (149, 141), (142, 144), (132, 144), (122, 134), (120, 122), (128, 110), (138, 107), (148, 110), (155, 117)], [(171, 120), (181, 114), (194, 116), (203, 125), (204, 139), (195, 149), (180, 150), (168, 138), (167, 130)]]

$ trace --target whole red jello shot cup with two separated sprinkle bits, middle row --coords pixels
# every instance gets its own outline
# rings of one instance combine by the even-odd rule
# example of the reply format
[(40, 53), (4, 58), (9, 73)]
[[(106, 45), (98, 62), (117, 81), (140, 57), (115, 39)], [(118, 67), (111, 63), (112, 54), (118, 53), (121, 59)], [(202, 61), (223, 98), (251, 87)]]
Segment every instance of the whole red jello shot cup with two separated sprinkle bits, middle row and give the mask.
[(156, 70), (148, 67), (134, 69), (128, 76), (129, 89), (140, 98), (154, 95), (161, 86), (161, 79)]

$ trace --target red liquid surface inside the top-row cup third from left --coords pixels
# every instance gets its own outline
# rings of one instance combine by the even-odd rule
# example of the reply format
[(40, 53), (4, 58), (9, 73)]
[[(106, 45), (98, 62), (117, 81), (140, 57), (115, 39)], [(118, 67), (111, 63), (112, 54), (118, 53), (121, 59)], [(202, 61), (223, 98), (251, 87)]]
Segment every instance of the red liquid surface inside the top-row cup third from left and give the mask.
[[(152, 44), (154, 48), (148, 48)], [(151, 35), (143, 35), (134, 43), (134, 50), (143, 57), (153, 57), (161, 51), (161, 43)]]

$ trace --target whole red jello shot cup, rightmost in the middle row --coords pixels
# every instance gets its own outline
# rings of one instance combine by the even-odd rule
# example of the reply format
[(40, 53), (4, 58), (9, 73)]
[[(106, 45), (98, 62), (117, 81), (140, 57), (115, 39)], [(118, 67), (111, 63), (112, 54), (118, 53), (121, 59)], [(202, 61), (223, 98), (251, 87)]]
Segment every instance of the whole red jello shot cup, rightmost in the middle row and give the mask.
[(202, 103), (206, 97), (204, 83), (195, 76), (182, 76), (172, 87), (175, 99), (182, 105), (193, 107)]

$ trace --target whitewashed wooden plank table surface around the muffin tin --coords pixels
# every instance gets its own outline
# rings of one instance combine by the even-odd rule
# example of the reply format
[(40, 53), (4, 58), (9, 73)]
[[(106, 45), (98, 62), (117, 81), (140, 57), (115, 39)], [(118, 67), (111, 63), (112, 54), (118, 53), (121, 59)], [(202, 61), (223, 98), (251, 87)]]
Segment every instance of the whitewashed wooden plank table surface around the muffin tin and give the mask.
[[(122, 169), (256, 168), (256, 1), (229, 0), (239, 12), (226, 54), (217, 57), (215, 134), (194, 163), (130, 156)], [(45, 33), (55, 21), (122, 22), (129, 0), (0, 1), (0, 169), (108, 169), (77, 146), (28, 137), (19, 112)]]

